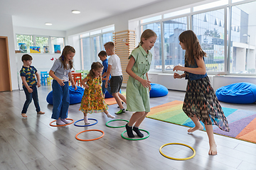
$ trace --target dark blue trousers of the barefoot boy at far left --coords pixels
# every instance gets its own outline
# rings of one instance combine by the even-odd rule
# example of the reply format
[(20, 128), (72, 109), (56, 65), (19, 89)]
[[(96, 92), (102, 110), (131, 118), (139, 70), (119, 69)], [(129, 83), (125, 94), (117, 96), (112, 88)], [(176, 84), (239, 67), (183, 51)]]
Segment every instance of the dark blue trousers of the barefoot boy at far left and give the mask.
[(21, 113), (26, 113), (28, 111), (28, 106), (32, 101), (34, 101), (34, 104), (36, 106), (36, 112), (40, 112), (40, 107), (39, 107), (39, 102), (38, 102), (38, 93), (37, 93), (37, 87), (36, 86), (32, 86), (31, 89), (33, 89), (32, 93), (28, 92), (28, 89), (26, 89), (26, 86), (23, 86), (24, 92), (26, 94), (26, 101), (24, 103), (23, 109), (21, 111)]

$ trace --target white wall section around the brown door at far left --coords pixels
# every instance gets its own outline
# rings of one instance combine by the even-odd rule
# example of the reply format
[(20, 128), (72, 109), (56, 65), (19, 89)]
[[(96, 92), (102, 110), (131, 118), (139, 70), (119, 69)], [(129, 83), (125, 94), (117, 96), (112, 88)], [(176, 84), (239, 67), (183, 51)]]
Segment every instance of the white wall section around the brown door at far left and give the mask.
[(9, 47), (9, 60), (11, 67), (11, 84), (12, 89), (18, 89), (18, 79), (16, 74), (16, 57), (14, 48), (14, 30), (12, 17), (9, 15), (0, 14), (0, 36), (8, 37), (8, 47)]

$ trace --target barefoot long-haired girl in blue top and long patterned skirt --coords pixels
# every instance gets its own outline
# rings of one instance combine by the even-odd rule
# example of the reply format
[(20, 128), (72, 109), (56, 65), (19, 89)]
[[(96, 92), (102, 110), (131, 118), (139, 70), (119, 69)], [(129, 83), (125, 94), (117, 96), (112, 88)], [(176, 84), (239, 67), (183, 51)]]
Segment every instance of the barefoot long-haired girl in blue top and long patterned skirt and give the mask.
[(221, 130), (229, 132), (228, 120), (225, 118), (223, 110), (215, 96), (209, 78), (206, 73), (204, 57), (206, 52), (201, 49), (198, 38), (192, 30), (186, 30), (178, 37), (181, 48), (186, 50), (185, 67), (176, 66), (174, 71), (184, 71), (184, 74), (174, 73), (174, 79), (186, 77), (188, 84), (186, 96), (183, 103), (183, 111), (188, 115), (195, 127), (188, 130), (203, 130), (202, 121), (206, 127), (209, 138), (210, 150), (208, 154), (217, 154), (217, 145), (213, 136), (213, 125), (217, 125)]

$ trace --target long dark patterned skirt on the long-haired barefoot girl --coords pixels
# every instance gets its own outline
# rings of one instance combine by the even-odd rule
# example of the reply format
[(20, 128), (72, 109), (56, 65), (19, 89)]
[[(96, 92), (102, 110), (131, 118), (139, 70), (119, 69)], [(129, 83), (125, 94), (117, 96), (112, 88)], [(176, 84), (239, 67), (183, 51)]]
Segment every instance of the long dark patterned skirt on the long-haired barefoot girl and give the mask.
[(217, 125), (226, 132), (230, 130), (208, 77), (188, 80), (182, 109), (189, 118), (196, 117), (205, 125)]

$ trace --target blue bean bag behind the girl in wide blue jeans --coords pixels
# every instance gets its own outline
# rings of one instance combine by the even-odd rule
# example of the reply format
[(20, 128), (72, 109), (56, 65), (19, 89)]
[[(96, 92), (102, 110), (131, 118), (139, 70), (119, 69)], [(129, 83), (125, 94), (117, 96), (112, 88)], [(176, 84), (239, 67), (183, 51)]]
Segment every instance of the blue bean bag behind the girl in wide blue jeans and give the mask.
[[(75, 103), (81, 103), (83, 93), (85, 89), (83, 89), (80, 86), (77, 86), (78, 89), (75, 91), (75, 89), (72, 86), (69, 86), (69, 92), (70, 92), (70, 104), (75, 104)], [(53, 104), (53, 91), (50, 91), (48, 96), (46, 97), (46, 101), (49, 104)]]

